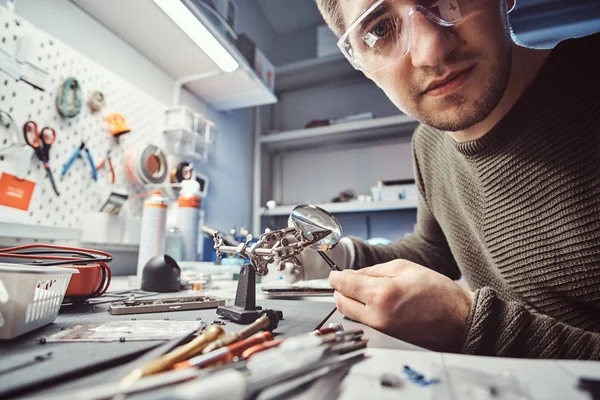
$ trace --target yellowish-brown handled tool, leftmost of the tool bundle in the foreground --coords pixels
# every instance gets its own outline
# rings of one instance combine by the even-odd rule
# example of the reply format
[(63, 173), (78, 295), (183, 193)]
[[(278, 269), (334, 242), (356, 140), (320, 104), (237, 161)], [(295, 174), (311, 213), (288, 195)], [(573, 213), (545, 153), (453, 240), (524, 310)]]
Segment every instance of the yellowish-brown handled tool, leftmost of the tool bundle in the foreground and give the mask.
[(127, 388), (144, 376), (167, 371), (178, 362), (187, 360), (188, 358), (200, 353), (207, 345), (214, 342), (224, 334), (225, 331), (219, 325), (211, 325), (206, 328), (202, 335), (196, 337), (189, 343), (177, 347), (173, 351), (157, 358), (154, 361), (149, 362), (142, 367), (134, 369), (127, 376), (121, 379), (119, 386), (121, 388)]

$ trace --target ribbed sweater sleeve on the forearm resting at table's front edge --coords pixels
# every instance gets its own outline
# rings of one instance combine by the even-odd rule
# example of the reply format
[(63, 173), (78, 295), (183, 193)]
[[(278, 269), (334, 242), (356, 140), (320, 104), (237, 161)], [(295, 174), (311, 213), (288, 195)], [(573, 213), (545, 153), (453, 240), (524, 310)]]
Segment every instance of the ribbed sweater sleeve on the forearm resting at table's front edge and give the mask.
[(600, 360), (600, 333), (575, 328), (517, 302), (500, 300), (488, 288), (475, 292), (462, 352), (465, 354)]

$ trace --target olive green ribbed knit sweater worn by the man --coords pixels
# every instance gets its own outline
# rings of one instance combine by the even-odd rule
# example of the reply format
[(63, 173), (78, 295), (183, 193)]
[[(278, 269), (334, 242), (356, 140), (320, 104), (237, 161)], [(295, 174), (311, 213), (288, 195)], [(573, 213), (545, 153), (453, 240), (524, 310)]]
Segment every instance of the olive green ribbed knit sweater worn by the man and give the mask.
[(404, 258), (465, 277), (466, 354), (600, 359), (599, 65), (600, 34), (564, 41), (480, 139), (417, 128), (415, 233), (354, 241), (358, 268)]

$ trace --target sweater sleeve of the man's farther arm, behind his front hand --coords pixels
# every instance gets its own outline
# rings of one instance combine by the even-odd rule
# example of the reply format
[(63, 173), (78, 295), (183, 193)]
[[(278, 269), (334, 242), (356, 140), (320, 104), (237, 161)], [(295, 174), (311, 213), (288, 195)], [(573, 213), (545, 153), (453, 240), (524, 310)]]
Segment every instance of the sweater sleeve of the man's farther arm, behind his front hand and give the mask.
[(351, 238), (355, 248), (354, 269), (385, 263), (398, 258), (431, 268), (450, 279), (459, 279), (460, 270), (448, 242), (427, 204), (419, 195), (415, 233), (388, 245), (369, 245)]

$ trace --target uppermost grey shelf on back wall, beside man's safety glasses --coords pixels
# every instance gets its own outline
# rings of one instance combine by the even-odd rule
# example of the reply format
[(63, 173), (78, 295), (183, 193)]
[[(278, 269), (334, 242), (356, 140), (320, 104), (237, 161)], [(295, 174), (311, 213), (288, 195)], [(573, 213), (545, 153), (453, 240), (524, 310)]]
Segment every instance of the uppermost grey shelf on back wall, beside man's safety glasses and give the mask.
[(283, 65), (275, 70), (275, 77), (276, 93), (324, 83), (367, 79), (362, 72), (355, 70), (341, 53)]

